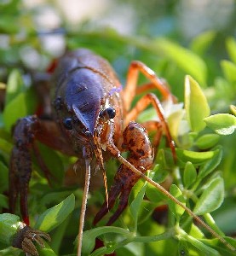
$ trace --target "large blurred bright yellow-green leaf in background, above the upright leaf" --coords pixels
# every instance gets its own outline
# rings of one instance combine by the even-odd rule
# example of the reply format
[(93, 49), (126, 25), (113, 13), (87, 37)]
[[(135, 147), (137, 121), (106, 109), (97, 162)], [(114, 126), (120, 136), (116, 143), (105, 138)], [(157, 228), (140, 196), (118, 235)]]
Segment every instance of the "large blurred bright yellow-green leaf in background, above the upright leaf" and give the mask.
[(181, 67), (185, 73), (192, 75), (200, 84), (206, 84), (206, 65), (198, 55), (163, 38), (156, 42), (158, 48), (163, 50), (164, 55), (171, 61), (176, 62), (176, 65)]

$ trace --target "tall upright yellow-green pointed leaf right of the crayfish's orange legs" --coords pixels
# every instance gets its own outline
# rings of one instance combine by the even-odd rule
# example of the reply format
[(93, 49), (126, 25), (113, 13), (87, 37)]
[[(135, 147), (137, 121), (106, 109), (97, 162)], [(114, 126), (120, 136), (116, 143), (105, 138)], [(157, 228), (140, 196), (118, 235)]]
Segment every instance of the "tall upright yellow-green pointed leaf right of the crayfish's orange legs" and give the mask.
[(192, 131), (202, 131), (205, 127), (203, 119), (210, 115), (210, 108), (199, 84), (190, 76), (185, 78), (185, 109)]

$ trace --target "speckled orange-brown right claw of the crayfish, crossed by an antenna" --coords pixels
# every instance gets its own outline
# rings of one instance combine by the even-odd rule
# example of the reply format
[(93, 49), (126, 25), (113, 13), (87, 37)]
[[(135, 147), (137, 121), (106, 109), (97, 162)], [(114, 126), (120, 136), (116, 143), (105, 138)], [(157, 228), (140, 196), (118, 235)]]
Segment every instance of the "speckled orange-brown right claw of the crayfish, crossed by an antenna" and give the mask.
[[(128, 161), (138, 170), (145, 173), (153, 165), (153, 149), (149, 141), (147, 131), (138, 123), (130, 122), (123, 132), (123, 147), (130, 151)], [(106, 201), (101, 210), (96, 214), (94, 224), (97, 224), (106, 213), (112, 209), (116, 198), (119, 196), (117, 211), (108, 220), (106, 225), (111, 225), (117, 220), (119, 215), (128, 205), (130, 191), (139, 180), (140, 176), (130, 171), (127, 166), (122, 164), (114, 177), (114, 183), (108, 193), (108, 207)]]

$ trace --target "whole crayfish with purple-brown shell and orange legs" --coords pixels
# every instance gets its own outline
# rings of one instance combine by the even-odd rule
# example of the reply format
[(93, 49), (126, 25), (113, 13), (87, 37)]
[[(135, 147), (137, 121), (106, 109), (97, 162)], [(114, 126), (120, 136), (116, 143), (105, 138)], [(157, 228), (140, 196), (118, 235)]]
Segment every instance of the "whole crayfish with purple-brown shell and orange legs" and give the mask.
[[(150, 82), (141, 85), (137, 90), (139, 73), (143, 73)], [(9, 172), (9, 208), (10, 212), (14, 212), (17, 196), (20, 195), (20, 212), (24, 222), (29, 224), (27, 193), (32, 174), (32, 151), (45, 175), (49, 175), (36, 141), (63, 154), (76, 156), (77, 165), (85, 172), (78, 231), (80, 255), (91, 169), (99, 168), (103, 172), (106, 187), (104, 161), (113, 157), (121, 162), (109, 193), (106, 189), (106, 201), (94, 220), (94, 224), (98, 223), (120, 195), (118, 210), (107, 223), (112, 224), (127, 206), (130, 190), (137, 180), (143, 177), (152, 183), (144, 173), (152, 168), (153, 148), (158, 147), (163, 133), (176, 160), (175, 144), (158, 97), (147, 93), (131, 108), (135, 94), (158, 89), (164, 101), (176, 102), (176, 97), (172, 96), (164, 80), (158, 79), (153, 70), (141, 61), (131, 62), (127, 84), (123, 89), (110, 64), (88, 49), (70, 51), (62, 56), (55, 68), (51, 84), (54, 85), (51, 94), (53, 97), (51, 100), (44, 100), (51, 101), (53, 106), (52, 110), (48, 110), (47, 118), (43, 118), (43, 115), (27, 116), (18, 120), (14, 127), (14, 148)], [(135, 123), (137, 116), (150, 104), (156, 110), (158, 120)], [(147, 131), (155, 133), (153, 145)], [(121, 155), (124, 151), (130, 151), (127, 160)], [(166, 191), (164, 193), (168, 194)], [(169, 194), (167, 196), (187, 210), (175, 197)], [(188, 212), (193, 213), (190, 210)], [(37, 240), (40, 236), (47, 237), (40, 231), (34, 235)], [(31, 249), (27, 251), (31, 252)]]

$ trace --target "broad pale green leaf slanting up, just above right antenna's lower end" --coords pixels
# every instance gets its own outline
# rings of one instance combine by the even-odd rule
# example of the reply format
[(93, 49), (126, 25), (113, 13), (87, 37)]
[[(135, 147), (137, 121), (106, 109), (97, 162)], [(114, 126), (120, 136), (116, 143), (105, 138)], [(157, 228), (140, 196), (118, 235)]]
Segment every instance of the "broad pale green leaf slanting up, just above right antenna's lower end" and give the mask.
[(199, 201), (194, 207), (197, 215), (215, 211), (222, 205), (224, 200), (224, 181), (222, 177), (216, 177), (212, 180), (209, 186), (204, 189)]

